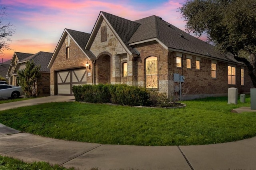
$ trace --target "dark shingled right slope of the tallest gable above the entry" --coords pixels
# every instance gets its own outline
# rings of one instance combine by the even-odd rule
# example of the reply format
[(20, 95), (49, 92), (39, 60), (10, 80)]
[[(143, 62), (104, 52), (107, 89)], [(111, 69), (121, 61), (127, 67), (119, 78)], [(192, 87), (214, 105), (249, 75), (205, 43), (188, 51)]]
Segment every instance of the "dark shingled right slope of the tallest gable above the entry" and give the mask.
[(102, 14), (106, 17), (110, 25), (114, 28), (116, 34), (121, 38), (121, 40), (124, 42), (126, 47), (132, 52), (137, 54), (138, 52), (131, 46), (128, 45), (128, 42), (134, 32), (138, 29), (140, 26), (139, 23), (126, 20), (124, 18), (121, 18), (119, 16), (115, 16), (106, 12), (102, 12)]

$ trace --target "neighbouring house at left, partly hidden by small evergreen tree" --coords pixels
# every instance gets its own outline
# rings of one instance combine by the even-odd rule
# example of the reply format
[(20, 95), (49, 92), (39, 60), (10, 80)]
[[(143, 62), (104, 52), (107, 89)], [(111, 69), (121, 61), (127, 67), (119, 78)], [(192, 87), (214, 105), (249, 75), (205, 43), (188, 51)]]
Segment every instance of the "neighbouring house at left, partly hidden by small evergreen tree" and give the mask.
[(14, 52), (8, 69), (8, 79), (10, 85), (18, 86), (18, 70), (26, 68), (27, 61), (34, 61), (35, 65), (40, 65), (42, 78), (37, 82), (40, 96), (50, 95), (50, 69), (47, 67), (53, 53), (40, 51), (36, 54)]

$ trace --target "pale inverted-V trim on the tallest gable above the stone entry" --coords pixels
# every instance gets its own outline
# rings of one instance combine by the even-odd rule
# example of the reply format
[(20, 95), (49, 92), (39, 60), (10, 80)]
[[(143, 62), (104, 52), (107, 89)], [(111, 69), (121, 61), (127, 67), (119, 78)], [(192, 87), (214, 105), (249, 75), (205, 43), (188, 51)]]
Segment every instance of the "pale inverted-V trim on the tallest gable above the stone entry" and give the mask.
[(97, 31), (100, 28), (100, 24), (102, 23), (102, 21), (105, 20), (105, 22), (108, 24), (110, 30), (114, 33), (114, 35), (116, 36), (116, 38), (118, 39), (118, 41), (121, 43), (122, 47), (126, 50), (126, 52), (129, 55), (132, 55), (132, 52), (126, 47), (126, 45), (124, 44), (124, 42), (121, 40), (121, 38), (118, 36), (118, 34), (116, 33), (116, 31), (114, 30), (114, 28), (111, 26), (111, 24), (108, 22), (108, 20), (106, 19), (106, 17), (104, 16), (104, 14), (102, 14), (102, 12), (100, 12), (98, 19), (94, 25), (94, 28), (92, 29), (92, 34), (90, 35), (90, 38), (88, 40), (88, 42), (86, 43), (85, 49), (90, 49), (90, 47), (92, 46), (92, 43), (94, 41), (94, 37), (97, 34)]

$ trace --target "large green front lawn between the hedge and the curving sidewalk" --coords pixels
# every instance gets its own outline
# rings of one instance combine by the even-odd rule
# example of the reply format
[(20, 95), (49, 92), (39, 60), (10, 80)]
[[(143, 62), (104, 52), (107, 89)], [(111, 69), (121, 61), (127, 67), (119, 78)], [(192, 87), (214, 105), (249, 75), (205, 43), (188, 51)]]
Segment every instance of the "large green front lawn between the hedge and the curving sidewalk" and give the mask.
[(256, 114), (231, 113), (246, 103), (227, 97), (184, 101), (180, 109), (78, 102), (45, 103), (0, 111), (0, 123), (40, 136), (102, 144), (199, 145), (256, 136)]

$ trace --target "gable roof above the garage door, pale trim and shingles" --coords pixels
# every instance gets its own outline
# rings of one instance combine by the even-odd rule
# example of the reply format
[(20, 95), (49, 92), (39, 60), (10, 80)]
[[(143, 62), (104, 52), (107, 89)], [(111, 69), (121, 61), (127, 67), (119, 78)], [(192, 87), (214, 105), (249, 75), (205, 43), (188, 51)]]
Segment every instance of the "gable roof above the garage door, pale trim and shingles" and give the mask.
[(54, 50), (52, 58), (50, 59), (48, 68), (50, 68), (52, 66), (54, 59), (56, 58), (56, 56), (60, 50), (60, 47), (61, 47), (62, 43), (64, 43), (67, 35), (69, 35), (70, 38), (76, 43), (76, 45), (78, 45), (78, 47), (81, 49), (81, 51), (86, 55), (86, 57), (89, 60), (96, 59), (96, 57), (93, 55), (93, 53), (91, 51), (85, 49), (85, 45), (88, 42), (90, 34), (65, 28), (56, 48)]

